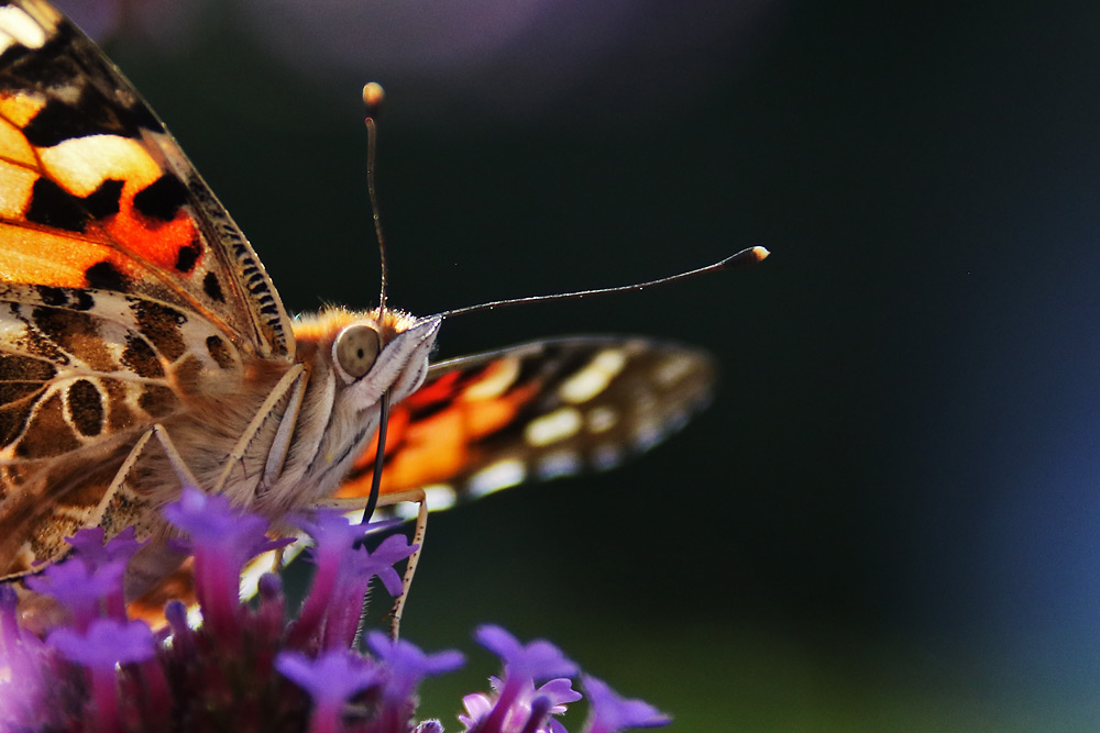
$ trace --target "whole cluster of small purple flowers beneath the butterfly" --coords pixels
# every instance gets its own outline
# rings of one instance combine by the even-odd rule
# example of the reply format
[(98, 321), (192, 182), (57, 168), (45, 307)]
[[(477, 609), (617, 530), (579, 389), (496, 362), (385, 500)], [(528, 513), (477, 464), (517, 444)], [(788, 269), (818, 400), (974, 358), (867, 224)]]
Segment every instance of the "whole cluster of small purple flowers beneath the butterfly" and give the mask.
[[(397, 563), (416, 548), (402, 535), (373, 552), (356, 549), (363, 527), (319, 512), (300, 526), (314, 541), (316, 574), (296, 618), (287, 622), (277, 575), (265, 575), (258, 601), (239, 596), (255, 555), (280, 547), (262, 519), (233, 511), (221, 497), (186, 490), (165, 517), (195, 557), (201, 624), (188, 624), (179, 601), (154, 632), (127, 617), (125, 565), (141, 544), (132, 530), (103, 544), (102, 530), (70, 541), (74, 557), (26, 579), (64, 607), (66, 620), (43, 640), (20, 626), (16, 593), (0, 586), (0, 733), (8, 731), (264, 730), (334, 733), (441, 733), (439, 721), (415, 721), (417, 690), (428, 677), (463, 663), (459, 652), (426, 654), (385, 634), (353, 651), (371, 579), (397, 595)], [(504, 663), (492, 692), (463, 699), (464, 731), (562, 733), (556, 719), (581, 699), (578, 666), (546, 641), (521, 644), (482, 626), (476, 641)], [(624, 700), (581, 676), (590, 702), (586, 733), (653, 728), (669, 718), (640, 700)]]

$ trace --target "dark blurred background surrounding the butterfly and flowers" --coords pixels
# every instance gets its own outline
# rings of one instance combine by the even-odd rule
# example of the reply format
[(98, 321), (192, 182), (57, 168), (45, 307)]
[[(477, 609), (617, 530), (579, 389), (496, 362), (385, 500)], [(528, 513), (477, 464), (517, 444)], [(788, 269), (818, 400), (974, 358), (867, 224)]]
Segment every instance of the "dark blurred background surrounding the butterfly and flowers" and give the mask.
[[(65, 3), (287, 306), (392, 299), (459, 355), (701, 344), (713, 407), (610, 474), (436, 515), (405, 634), (547, 636), (681, 731), (1100, 720), (1100, 5), (658, 0)], [(978, 3), (980, 4), (980, 3)], [(75, 7), (76, 5), (76, 7)]]

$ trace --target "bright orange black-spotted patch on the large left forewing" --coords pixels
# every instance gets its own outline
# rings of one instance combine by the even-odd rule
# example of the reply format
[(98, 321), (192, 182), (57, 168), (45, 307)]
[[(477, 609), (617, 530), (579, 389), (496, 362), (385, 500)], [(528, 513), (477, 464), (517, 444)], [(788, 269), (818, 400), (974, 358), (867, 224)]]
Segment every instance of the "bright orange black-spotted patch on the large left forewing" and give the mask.
[[(4, 122), (10, 131), (13, 122)], [(207, 247), (184, 208), (187, 190), (142, 143), (90, 135), (31, 146), (31, 156), (28, 164), (14, 149), (0, 164), (4, 281), (152, 295), (211, 315), (221, 310), (228, 284), (197, 267)], [(197, 271), (207, 280), (182, 288)]]

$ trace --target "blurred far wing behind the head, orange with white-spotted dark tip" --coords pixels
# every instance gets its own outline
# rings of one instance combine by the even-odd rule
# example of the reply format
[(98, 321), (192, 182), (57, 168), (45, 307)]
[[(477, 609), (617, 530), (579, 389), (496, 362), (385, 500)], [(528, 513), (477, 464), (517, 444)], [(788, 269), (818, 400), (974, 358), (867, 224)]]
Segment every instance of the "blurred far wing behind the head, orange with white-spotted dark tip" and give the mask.
[[(382, 501), (427, 488), (441, 509), (610, 468), (683, 426), (714, 380), (706, 353), (638, 337), (537, 341), (433, 364), (393, 409)], [(367, 448), (337, 498), (367, 495), (374, 456)]]

